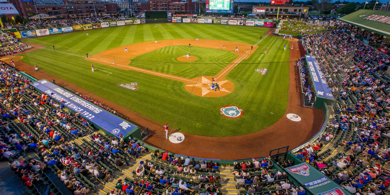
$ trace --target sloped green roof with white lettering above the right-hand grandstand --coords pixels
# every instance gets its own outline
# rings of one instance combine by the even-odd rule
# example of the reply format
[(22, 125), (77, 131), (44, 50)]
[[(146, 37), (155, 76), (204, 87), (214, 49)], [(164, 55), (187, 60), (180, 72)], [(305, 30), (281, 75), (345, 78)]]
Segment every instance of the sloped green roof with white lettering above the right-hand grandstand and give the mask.
[(338, 20), (390, 37), (390, 12), (360, 9)]

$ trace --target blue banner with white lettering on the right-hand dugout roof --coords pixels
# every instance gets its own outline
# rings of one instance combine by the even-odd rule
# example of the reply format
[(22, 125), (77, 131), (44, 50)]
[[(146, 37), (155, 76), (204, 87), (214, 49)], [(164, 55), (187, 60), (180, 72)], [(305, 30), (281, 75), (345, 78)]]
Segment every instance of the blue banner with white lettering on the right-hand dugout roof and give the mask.
[(332, 91), (329, 89), (328, 83), (326, 83), (325, 76), (322, 73), (316, 57), (312, 55), (305, 55), (307, 60), (308, 69), (312, 76), (314, 89), (316, 90), (317, 97), (326, 97), (327, 99), (334, 100)]

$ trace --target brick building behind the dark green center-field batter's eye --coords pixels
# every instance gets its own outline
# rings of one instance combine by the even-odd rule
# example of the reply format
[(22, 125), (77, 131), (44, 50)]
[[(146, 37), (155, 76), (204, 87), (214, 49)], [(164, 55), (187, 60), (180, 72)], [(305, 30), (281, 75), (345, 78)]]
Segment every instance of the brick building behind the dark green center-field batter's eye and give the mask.
[(150, 0), (149, 3), (138, 3), (137, 5), (140, 11), (183, 11), (186, 14), (195, 13), (195, 7), (192, 0)]

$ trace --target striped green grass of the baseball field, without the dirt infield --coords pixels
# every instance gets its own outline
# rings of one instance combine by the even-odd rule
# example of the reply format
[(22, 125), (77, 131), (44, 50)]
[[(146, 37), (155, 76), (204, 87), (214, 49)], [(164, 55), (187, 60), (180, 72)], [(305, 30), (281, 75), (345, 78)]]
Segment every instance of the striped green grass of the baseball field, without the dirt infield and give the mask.
[[(74, 32), (24, 39), (23, 41), (26, 42), (45, 45), (49, 50), (43, 49), (25, 53), (21, 60), (31, 65), (37, 64), (43, 71), (85, 90), (93, 91), (98, 96), (161, 124), (165, 122), (174, 124), (181, 113), (174, 128), (196, 135), (221, 137), (252, 133), (270, 126), (284, 115), (288, 101), (289, 64), (287, 61), (289, 61), (289, 50), (283, 50), (283, 45), (286, 44), (288, 48), (289, 41), (280, 37), (265, 37), (264, 32), (268, 28), (232, 25), (225, 28), (225, 25), (185, 23), (156, 24), (156, 26), (158, 28), (154, 28), (154, 24), (145, 24), (90, 30), (88, 37), (85, 36), (85, 32)], [(94, 63), (96, 69), (113, 74), (106, 75), (107, 73), (103, 71), (92, 73), (90, 62), (84, 60), (87, 52), (91, 56), (119, 46), (156, 39), (195, 39), (195, 37), (199, 37), (200, 39), (256, 44), (260, 41), (260, 36), (263, 39), (257, 45), (259, 48), (255, 53), (247, 60), (243, 60), (225, 76), (235, 86), (232, 93), (222, 97), (191, 95), (187, 103), (186, 100), (190, 93), (184, 89), (183, 82), (137, 71), (124, 71), (97, 63)], [(56, 51), (51, 50), (53, 44), (56, 45)], [(183, 55), (182, 51), (174, 51), (175, 47), (180, 48), (180, 46), (168, 46), (136, 58), (160, 62), (175, 61), (176, 55)], [(259, 57), (264, 54), (265, 47), (268, 48), (268, 54), (259, 60)], [(195, 52), (191, 51), (191, 54), (197, 57), (199, 55), (195, 62), (231, 62), (232, 59), (236, 58), (232, 52), (214, 51), (208, 48), (201, 51), (200, 49)], [(180, 48), (180, 50), (185, 50), (185, 48)], [(218, 52), (219, 57), (213, 57), (209, 54), (211, 50), (213, 53)], [(223, 68), (220, 65), (191, 63), (184, 65), (170, 63), (161, 65), (161, 63), (156, 62), (136, 64), (134, 61), (130, 65), (144, 66), (145, 68), (156, 66), (154, 71), (190, 78), (214, 76)], [(188, 67), (182, 69), (181, 66)], [(263, 76), (254, 71), (255, 68), (269, 68), (269, 71), (266, 76)], [(119, 83), (131, 82), (139, 83), (137, 85), (139, 89), (136, 92), (116, 86)], [(238, 119), (223, 117), (219, 108), (225, 105), (235, 105), (243, 109), (243, 116)], [(182, 109), (183, 112), (181, 112)]]

